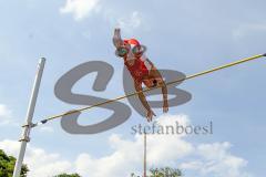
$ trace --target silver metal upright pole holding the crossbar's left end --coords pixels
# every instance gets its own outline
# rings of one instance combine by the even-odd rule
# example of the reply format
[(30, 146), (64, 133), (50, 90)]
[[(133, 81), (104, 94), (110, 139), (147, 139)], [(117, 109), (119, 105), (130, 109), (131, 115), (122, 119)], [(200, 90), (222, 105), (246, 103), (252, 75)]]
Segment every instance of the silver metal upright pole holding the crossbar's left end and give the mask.
[(21, 171), (21, 167), (22, 167), (22, 163), (23, 163), (23, 158), (24, 158), (27, 143), (30, 142), (30, 131), (32, 128), (32, 117), (33, 117), (37, 97), (38, 97), (38, 93), (39, 93), (39, 88), (40, 88), (40, 84), (41, 84), (41, 77), (42, 77), (42, 73), (43, 73), (43, 69), (44, 69), (44, 63), (45, 63), (45, 59), (41, 58), (39, 65), (38, 65), (38, 71), (37, 71), (35, 80), (34, 80), (33, 90), (31, 93), (29, 108), (27, 112), (25, 125), (23, 126), (22, 137), (19, 140), (19, 142), (21, 142), (21, 145), (20, 145), (20, 152), (18, 155), (18, 159), (17, 159), (16, 166), (14, 166), (13, 177), (20, 177), (20, 171)]

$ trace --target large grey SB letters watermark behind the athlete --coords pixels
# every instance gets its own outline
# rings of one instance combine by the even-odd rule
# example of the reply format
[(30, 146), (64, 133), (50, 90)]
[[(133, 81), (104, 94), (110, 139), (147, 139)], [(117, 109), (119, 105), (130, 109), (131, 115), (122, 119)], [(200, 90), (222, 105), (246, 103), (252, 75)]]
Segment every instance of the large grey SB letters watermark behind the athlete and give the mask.
[[(165, 79), (165, 82), (171, 82), (174, 80), (181, 81), (185, 79), (185, 74), (174, 71), (174, 70), (160, 70), (161, 74)], [(75, 85), (78, 81), (80, 81), (83, 76), (96, 73), (95, 81), (93, 83), (92, 90), (95, 92), (104, 92), (108, 88), (108, 84), (111, 81), (114, 69), (106, 62), (102, 61), (90, 61), (82, 63), (65, 74), (63, 74), (54, 86), (55, 96), (69, 104), (74, 105), (94, 105), (95, 103), (106, 102), (108, 98), (98, 97), (88, 94), (73, 93), (72, 87)], [(174, 107), (182, 104), (187, 103), (192, 95), (183, 90), (177, 88), (176, 86), (180, 83), (172, 84), (167, 87), (168, 95), (174, 95), (173, 98), (168, 100), (168, 106)], [(134, 93), (134, 82), (127, 72), (127, 69), (123, 70), (123, 87), (125, 94)], [(160, 95), (162, 94), (160, 88), (153, 90), (151, 92), (145, 93), (146, 96), (151, 95)], [(142, 116), (145, 116), (145, 110), (139, 101), (137, 96), (127, 97), (131, 106)], [(162, 101), (149, 101), (149, 104), (152, 108), (162, 107)], [(65, 115), (61, 118), (62, 128), (70, 134), (96, 134), (114, 128), (124, 122), (126, 122), (131, 114), (131, 107), (122, 102), (112, 102), (110, 104), (100, 105), (99, 107), (106, 108), (113, 112), (110, 117), (106, 117), (104, 121), (92, 124), (92, 125), (80, 125), (78, 124), (79, 116), (81, 112), (75, 112), (71, 115)]]

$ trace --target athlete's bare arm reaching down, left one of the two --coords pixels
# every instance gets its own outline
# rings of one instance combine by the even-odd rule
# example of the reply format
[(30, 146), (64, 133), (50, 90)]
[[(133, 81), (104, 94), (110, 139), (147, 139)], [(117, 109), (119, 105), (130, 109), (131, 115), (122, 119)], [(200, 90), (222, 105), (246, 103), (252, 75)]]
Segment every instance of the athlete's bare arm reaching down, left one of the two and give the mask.
[(146, 111), (147, 111), (147, 115), (146, 115), (146, 117), (147, 117), (147, 121), (152, 121), (152, 117), (153, 116), (156, 116), (154, 113), (153, 113), (153, 111), (151, 110), (151, 107), (150, 107), (150, 105), (149, 105), (149, 103), (147, 103), (147, 101), (146, 101), (146, 97), (145, 97), (145, 95), (143, 94), (143, 90), (142, 90), (142, 83), (141, 82), (137, 82), (137, 81), (134, 81), (134, 84), (135, 84), (135, 90), (136, 90), (136, 92), (140, 92), (140, 93), (137, 93), (137, 95), (139, 95), (139, 98), (141, 100), (141, 102), (142, 102), (142, 104), (143, 104), (143, 106), (146, 108)]

